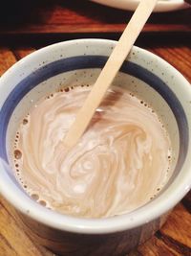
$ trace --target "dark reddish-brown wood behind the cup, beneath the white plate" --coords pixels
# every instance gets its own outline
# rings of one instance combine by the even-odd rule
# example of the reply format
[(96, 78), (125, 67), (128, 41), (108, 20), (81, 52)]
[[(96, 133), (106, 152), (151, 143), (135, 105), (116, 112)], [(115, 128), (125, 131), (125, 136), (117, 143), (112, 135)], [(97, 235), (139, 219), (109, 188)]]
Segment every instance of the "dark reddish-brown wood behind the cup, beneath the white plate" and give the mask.
[[(31, 8), (25, 1), (13, 2), (17, 2), (17, 14), (9, 15), (9, 12), (15, 13), (15, 5), (7, 5), (5, 10), (2, 8), (0, 35), (121, 33), (132, 15), (132, 12), (104, 7), (88, 0), (33, 0), (30, 1)], [(153, 13), (143, 33), (188, 34), (191, 32), (190, 14), (191, 9), (171, 15)]]

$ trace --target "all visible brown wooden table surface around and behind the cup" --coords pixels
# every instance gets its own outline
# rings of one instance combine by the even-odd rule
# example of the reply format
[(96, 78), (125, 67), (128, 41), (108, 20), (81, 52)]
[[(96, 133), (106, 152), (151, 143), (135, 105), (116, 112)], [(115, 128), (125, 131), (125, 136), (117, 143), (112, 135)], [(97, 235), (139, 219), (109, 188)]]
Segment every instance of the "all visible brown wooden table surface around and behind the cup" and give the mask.
[[(81, 37), (117, 39), (132, 15), (83, 0), (15, 2), (9, 12), (5, 6), (0, 16), (0, 75), (18, 59), (53, 42)], [(19, 6), (20, 2), (23, 5)], [(29, 5), (27, 10), (31, 11), (26, 12), (24, 8)], [(18, 16), (12, 14), (15, 11)], [(191, 10), (155, 13), (136, 43), (166, 59), (188, 81), (191, 81), (190, 17)], [(32, 243), (14, 209), (0, 197), (0, 256), (43, 255), (53, 256), (53, 253)], [(157, 234), (129, 255), (191, 256), (191, 193), (175, 207)]]

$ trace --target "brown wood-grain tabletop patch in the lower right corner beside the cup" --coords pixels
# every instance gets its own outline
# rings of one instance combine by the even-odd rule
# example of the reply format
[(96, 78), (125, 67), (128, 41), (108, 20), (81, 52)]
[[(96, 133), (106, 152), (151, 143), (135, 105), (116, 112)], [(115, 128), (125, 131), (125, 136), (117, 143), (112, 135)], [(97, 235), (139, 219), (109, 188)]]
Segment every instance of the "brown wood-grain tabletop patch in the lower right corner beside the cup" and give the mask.
[(180, 203), (155, 237), (138, 247), (143, 255), (191, 255), (191, 216)]

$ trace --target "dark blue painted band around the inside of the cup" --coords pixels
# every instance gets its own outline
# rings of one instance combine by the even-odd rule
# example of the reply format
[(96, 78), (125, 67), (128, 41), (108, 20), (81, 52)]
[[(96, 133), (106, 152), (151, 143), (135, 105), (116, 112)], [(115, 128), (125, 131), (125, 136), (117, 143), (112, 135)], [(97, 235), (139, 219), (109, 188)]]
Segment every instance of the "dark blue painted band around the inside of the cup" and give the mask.
[[(0, 110), (0, 157), (8, 162), (8, 155), (6, 149), (6, 136), (11, 114), (16, 105), (22, 100), (25, 95), (37, 86), (40, 82), (46, 81), (58, 74), (87, 68), (102, 68), (107, 61), (104, 56), (78, 56), (72, 58), (62, 58), (53, 61), (43, 67), (38, 68), (32, 74), (20, 81), (11, 91), (9, 97), (5, 101)], [(152, 88), (159, 92), (160, 96), (170, 106), (180, 131), (180, 153), (176, 169), (180, 167), (186, 157), (188, 149), (188, 123), (179, 99), (168, 85), (159, 79), (155, 74), (149, 70), (139, 66), (131, 61), (124, 61), (120, 72), (129, 74), (137, 79), (146, 82)]]

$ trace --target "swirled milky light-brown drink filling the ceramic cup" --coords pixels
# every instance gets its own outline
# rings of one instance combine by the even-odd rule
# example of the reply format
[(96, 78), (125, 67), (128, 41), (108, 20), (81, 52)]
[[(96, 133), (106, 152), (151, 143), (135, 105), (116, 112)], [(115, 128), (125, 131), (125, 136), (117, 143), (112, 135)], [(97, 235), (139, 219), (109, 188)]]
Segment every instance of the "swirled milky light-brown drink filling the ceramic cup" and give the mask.
[(15, 135), (13, 165), (25, 191), (57, 212), (105, 218), (131, 212), (170, 176), (171, 144), (154, 110), (125, 89), (111, 87), (71, 151), (64, 136), (89, 86), (41, 99)]

